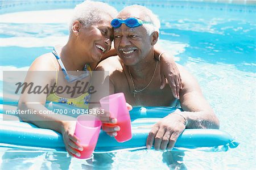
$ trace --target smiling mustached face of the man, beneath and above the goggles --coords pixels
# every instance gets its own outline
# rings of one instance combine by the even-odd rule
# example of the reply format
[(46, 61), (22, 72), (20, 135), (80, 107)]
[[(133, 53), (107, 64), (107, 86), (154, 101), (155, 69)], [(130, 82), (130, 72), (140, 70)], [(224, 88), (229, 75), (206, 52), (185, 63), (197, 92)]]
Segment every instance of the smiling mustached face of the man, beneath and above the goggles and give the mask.
[[(122, 12), (117, 16), (119, 19), (130, 17), (138, 18), (130, 12)], [(152, 45), (144, 27), (130, 28), (122, 24), (114, 29), (114, 47), (125, 65), (135, 65), (150, 53)]]

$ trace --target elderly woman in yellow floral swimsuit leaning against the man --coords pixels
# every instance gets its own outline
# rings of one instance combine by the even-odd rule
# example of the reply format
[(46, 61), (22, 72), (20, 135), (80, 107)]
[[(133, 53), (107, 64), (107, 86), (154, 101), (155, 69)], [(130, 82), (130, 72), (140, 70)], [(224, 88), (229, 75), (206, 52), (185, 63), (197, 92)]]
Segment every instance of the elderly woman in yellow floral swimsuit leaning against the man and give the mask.
[[(90, 94), (86, 92), (88, 88), (82, 94), (78, 92), (75, 94), (73, 92), (58, 93), (58, 90), (61, 86), (72, 87), (78, 83), (82, 85), (85, 82), (90, 82), (91, 76), (89, 75), (92, 74), (97, 63), (101, 59), (115, 54), (113, 49), (110, 50), (113, 33), (110, 22), (115, 16), (117, 16), (117, 10), (106, 3), (85, 1), (77, 5), (70, 25), (67, 44), (55, 46), (52, 53), (36, 58), (25, 79), (25, 82), (33, 82), (36, 86), (53, 87), (55, 92), (48, 90), (40, 94), (30, 94), (26, 89), (20, 96), (19, 109), (32, 109), (36, 113), (48, 111), (44, 106), (46, 101), (66, 103), (87, 109), (90, 100)], [(162, 62), (166, 59), (163, 56)], [(170, 62), (168, 66), (173, 63)], [(176, 66), (171, 69), (171, 73), (177, 70)], [(167, 67), (164, 70), (170, 70), (170, 68)], [(170, 71), (164, 73), (169, 74)], [(177, 78), (174, 82), (179, 87), (179, 71), (177, 73), (174, 74), (174, 77)], [(164, 84), (165, 79), (162, 82)], [(175, 93), (179, 94), (179, 92)], [(82, 147), (79, 144), (79, 139), (74, 135), (76, 121), (73, 120), (75, 118), (63, 114), (22, 114), (20, 118), (23, 121), (32, 122), (40, 128), (58, 131), (63, 135), (67, 152), (72, 156), (80, 156), (79, 150), (81, 151)]]

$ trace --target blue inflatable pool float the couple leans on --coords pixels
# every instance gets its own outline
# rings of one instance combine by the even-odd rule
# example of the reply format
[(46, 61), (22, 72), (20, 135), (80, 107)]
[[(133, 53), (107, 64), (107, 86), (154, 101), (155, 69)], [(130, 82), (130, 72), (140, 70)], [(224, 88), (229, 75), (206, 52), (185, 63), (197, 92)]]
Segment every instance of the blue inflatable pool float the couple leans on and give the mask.
[[(0, 100), (5, 113), (6, 103)], [(16, 105), (17, 102), (8, 102)], [(47, 103), (48, 109), (77, 109), (67, 104)], [(135, 107), (130, 111), (133, 138), (130, 141), (118, 143), (104, 131), (100, 132), (94, 152), (114, 152), (117, 150), (138, 150), (146, 148), (146, 138), (151, 126), (159, 118), (175, 112), (178, 108), (171, 107)], [(3, 115), (5, 116), (5, 115)], [(20, 121), (0, 120), (0, 146), (33, 147), (40, 150), (65, 151), (61, 134), (50, 129), (42, 129), (34, 124)], [(232, 136), (218, 129), (185, 129), (175, 143), (176, 150), (199, 149), (204, 151), (226, 151), (239, 145)]]

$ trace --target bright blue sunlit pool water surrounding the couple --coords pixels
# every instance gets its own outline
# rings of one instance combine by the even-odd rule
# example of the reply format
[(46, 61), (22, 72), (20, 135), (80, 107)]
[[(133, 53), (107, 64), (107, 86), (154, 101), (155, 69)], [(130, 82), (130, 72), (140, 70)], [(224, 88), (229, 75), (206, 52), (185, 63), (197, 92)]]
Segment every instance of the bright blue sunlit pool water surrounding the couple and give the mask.
[[(27, 70), (36, 57), (67, 41), (67, 18), (79, 2), (35, 1), (2, 6), (1, 70)], [(107, 2), (118, 10), (139, 2), (159, 16), (159, 44), (197, 78), (220, 119), (220, 129), (240, 142), (228, 152), (185, 152), (183, 162), (187, 169), (255, 169), (256, 6), (188, 1)], [(1, 85), (1, 95), (2, 92)], [(64, 153), (1, 147), (0, 169), (168, 169), (160, 151), (125, 151), (94, 157), (86, 162)]]

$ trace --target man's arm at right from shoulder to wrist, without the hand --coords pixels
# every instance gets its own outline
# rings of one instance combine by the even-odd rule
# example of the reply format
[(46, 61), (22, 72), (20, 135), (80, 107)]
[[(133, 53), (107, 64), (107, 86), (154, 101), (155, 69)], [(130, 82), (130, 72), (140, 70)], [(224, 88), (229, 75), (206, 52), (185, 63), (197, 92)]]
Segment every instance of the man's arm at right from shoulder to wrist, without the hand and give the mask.
[(218, 129), (218, 118), (203, 96), (197, 80), (183, 67), (183, 90), (180, 91), (180, 104), (184, 112), (181, 114), (187, 119), (186, 128)]

